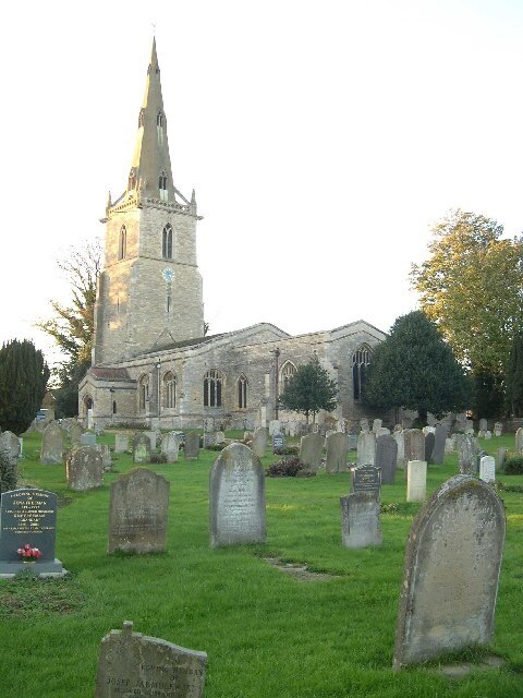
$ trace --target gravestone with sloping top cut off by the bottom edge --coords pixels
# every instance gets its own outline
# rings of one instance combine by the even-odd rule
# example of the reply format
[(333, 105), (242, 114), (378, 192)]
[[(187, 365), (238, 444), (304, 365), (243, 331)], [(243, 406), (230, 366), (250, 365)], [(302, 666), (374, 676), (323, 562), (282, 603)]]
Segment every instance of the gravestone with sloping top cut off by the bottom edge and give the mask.
[(133, 633), (124, 621), (101, 640), (95, 698), (203, 698), (207, 654)]

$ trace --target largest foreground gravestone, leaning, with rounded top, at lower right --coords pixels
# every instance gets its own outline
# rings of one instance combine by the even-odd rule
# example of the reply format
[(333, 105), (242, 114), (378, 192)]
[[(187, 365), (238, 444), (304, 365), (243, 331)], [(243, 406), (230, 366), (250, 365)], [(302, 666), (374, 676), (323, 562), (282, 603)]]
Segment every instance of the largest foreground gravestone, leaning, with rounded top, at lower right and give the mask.
[(406, 544), (394, 669), (490, 642), (504, 531), (502, 502), (471, 476), (447, 480), (421, 508)]

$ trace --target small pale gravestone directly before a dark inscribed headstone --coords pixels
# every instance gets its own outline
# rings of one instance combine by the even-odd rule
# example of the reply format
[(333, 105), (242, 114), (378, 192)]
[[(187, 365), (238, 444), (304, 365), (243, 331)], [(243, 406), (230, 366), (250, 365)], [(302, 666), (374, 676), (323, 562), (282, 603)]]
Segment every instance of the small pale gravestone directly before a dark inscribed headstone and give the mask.
[(381, 545), (380, 504), (372, 492), (340, 497), (341, 540), (345, 547)]

